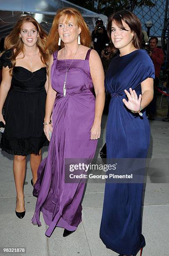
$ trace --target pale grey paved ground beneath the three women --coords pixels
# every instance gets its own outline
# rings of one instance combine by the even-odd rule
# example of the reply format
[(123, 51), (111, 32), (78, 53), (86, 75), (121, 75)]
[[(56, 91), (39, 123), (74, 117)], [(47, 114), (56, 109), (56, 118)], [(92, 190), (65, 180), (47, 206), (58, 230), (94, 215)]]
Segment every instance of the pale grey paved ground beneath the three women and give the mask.
[[(106, 117), (102, 122), (102, 137), (99, 140), (97, 153), (104, 144)], [(45, 148), (43, 157), (47, 155)], [(151, 146), (149, 157), (167, 158), (169, 156), (169, 123), (156, 120), (151, 122)], [(168, 166), (167, 166), (168, 168)], [(156, 175), (157, 174), (157, 175)], [(166, 171), (160, 175), (153, 170), (149, 180), (154, 175), (162, 180), (167, 177)], [(166, 176), (165, 176), (166, 175)], [(0, 247), (26, 247), (27, 256), (117, 256), (117, 253), (106, 249), (99, 239), (99, 225), (102, 215), (104, 184), (87, 184), (82, 202), (82, 223), (76, 232), (63, 238), (62, 228), (56, 228), (51, 238), (45, 236), (47, 225), (42, 215), (42, 226), (38, 228), (31, 224), (35, 208), (35, 197), (32, 196), (30, 162), (27, 161), (25, 180), (26, 215), (18, 219), (15, 215), (15, 185), (12, 174), (12, 156), (0, 153)], [(143, 256), (169, 255), (169, 184), (147, 183), (144, 195), (143, 228), (146, 247)], [(0, 255), (5, 255), (0, 253)], [(139, 255), (139, 253), (138, 253)]]

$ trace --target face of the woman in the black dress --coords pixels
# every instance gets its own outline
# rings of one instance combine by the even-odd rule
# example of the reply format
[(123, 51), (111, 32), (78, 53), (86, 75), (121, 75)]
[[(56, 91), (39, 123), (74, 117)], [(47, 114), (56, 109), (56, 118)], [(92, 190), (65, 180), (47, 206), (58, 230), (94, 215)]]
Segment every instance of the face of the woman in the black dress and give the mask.
[(19, 36), (22, 38), (22, 42), (26, 46), (32, 47), (36, 44), (39, 34), (32, 22), (25, 22), (21, 26)]

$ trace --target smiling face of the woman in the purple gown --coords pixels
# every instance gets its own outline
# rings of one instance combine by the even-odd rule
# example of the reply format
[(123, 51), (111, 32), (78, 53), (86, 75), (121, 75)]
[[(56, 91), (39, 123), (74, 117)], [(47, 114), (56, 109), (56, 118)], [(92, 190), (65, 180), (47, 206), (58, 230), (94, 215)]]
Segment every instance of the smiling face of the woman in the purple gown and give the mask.
[(73, 17), (67, 22), (67, 16), (61, 16), (59, 19), (58, 33), (64, 44), (77, 43), (78, 34), (81, 29), (78, 28)]

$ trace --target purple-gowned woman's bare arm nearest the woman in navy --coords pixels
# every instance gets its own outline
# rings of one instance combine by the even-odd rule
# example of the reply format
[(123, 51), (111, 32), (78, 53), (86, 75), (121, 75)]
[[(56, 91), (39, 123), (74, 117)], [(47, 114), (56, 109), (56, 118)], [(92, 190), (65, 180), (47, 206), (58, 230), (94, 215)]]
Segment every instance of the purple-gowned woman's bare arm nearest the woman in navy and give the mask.
[(92, 50), (89, 58), (90, 74), (96, 94), (94, 123), (91, 129), (91, 139), (100, 138), (101, 119), (104, 108), (104, 70), (97, 51)]

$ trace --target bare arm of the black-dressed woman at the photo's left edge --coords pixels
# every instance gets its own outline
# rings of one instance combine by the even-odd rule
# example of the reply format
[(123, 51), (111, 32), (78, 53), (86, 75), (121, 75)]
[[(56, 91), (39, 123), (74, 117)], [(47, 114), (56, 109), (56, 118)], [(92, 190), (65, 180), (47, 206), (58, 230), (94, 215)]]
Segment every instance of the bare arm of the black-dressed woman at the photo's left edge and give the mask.
[(10, 90), (12, 76), (10, 75), (10, 69), (8, 67), (2, 68), (2, 82), (0, 84), (0, 121), (5, 124), (5, 120), (2, 116), (2, 108), (7, 97), (7, 93)]

